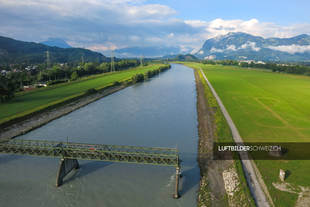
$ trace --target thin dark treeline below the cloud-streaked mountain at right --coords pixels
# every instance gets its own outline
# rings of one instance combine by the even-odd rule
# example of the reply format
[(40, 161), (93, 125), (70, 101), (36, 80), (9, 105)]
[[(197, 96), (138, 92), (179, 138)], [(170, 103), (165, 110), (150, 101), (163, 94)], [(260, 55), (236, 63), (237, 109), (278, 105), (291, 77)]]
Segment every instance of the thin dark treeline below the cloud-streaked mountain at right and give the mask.
[(272, 70), (273, 72), (283, 72), (299, 75), (308, 75), (310, 76), (310, 67), (305, 65), (296, 65), (296, 64), (277, 64), (277, 63), (255, 63), (255, 62), (238, 62), (234, 60), (221, 60), (221, 61), (212, 61), (204, 60), (204, 64), (221, 64), (221, 65), (234, 65), (245, 68), (261, 68)]

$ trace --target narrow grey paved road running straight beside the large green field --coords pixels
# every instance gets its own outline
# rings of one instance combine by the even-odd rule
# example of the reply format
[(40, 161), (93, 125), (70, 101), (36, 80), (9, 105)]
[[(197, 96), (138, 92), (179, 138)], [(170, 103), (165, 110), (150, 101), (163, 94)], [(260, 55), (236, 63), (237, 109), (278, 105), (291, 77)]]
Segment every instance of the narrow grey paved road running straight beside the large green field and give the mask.
[[(229, 113), (227, 112), (225, 106), (223, 105), (220, 97), (217, 95), (216, 91), (212, 87), (211, 83), (207, 79), (206, 75), (200, 68), (200, 72), (202, 73), (204, 79), (206, 80), (207, 84), (209, 85), (209, 88), (211, 89), (214, 97), (216, 98), (217, 103), (219, 104), (222, 113), (224, 114), (225, 119), (227, 120), (227, 123), (231, 129), (234, 141), (236, 143), (243, 143), (243, 140), (238, 132), (237, 127), (235, 126), (233, 120), (231, 119)], [(254, 168), (252, 166), (251, 160), (247, 159), (248, 154), (247, 153), (240, 153), (241, 157), (241, 163), (243, 165), (244, 174), (248, 183), (248, 186), (250, 187), (251, 194), (255, 200), (255, 203), (258, 207), (269, 207), (269, 202), (267, 200), (267, 197), (265, 193), (262, 190), (261, 185), (258, 182), (258, 178), (255, 174)], [(253, 163), (254, 164), (254, 163)]]

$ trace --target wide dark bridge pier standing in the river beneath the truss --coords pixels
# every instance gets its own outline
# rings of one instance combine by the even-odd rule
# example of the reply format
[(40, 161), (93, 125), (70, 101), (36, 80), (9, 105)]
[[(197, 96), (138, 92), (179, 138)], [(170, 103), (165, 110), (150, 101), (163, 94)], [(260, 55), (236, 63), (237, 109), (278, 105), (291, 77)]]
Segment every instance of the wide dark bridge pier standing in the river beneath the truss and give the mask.
[(60, 166), (56, 178), (56, 186), (59, 187), (63, 184), (63, 179), (68, 175), (73, 169), (79, 169), (80, 165), (76, 159), (62, 158), (60, 160)]

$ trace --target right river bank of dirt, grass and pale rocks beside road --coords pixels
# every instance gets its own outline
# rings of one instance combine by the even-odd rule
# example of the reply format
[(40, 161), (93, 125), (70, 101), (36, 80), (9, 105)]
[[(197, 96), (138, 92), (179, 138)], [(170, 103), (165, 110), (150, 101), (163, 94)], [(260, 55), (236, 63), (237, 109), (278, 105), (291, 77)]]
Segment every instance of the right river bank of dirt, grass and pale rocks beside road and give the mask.
[(198, 113), (198, 206), (253, 206), (239, 161), (213, 160), (213, 144), (231, 140), (231, 132), (202, 74), (195, 71)]

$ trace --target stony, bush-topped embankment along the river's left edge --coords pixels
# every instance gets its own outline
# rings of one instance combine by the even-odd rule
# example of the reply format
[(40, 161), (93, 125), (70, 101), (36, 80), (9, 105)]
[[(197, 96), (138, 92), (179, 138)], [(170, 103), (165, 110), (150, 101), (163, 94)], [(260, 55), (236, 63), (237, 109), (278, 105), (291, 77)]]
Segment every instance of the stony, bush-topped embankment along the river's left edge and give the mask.
[(148, 70), (145, 73), (137, 73), (121, 81), (115, 81), (102, 87), (93, 88), (37, 107), (26, 113), (13, 116), (11, 119), (0, 124), (0, 139), (11, 139), (18, 135), (25, 134), (109, 94), (117, 92), (137, 82), (149, 79), (169, 68), (171, 68), (170, 65), (159, 66), (158, 68)]

